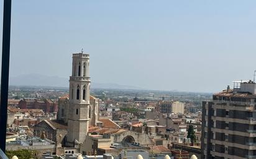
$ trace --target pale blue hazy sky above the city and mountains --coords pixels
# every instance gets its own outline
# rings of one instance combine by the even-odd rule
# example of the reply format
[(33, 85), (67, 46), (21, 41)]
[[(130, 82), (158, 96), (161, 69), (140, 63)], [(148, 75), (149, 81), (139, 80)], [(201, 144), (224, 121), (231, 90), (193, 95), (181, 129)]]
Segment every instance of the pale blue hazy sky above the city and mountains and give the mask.
[(253, 79), (256, 1), (12, 0), (11, 76), (68, 78), (81, 48), (93, 82), (218, 92)]

